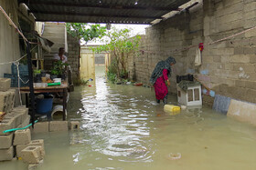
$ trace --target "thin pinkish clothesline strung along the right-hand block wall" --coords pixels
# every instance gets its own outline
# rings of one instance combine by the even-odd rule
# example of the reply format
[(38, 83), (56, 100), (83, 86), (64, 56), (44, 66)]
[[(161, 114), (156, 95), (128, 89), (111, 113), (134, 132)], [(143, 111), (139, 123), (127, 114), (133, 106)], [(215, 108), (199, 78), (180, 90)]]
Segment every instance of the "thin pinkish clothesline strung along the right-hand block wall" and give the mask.
[[(247, 33), (247, 32), (249, 32), (249, 31), (251, 31), (251, 30), (253, 30), (253, 29), (256, 29), (256, 26), (251, 27), (251, 28), (249, 28), (249, 29), (247, 29), (247, 30), (241, 31), (240, 33), (237, 33), (237, 34), (235, 34), (235, 35), (229, 35), (229, 36), (227, 36), (227, 37), (224, 37), (224, 38), (221, 38), (221, 39), (219, 39), (219, 40), (213, 41), (213, 42), (211, 42), (211, 43), (208, 43), (207, 45), (214, 45), (214, 44), (217, 44), (217, 43), (221, 43), (221, 42), (223, 42), (223, 41), (225, 41), (225, 40), (227, 40), (227, 39), (230, 39), (230, 38), (232, 38), (232, 37), (235, 37), (235, 36), (238, 36), (238, 35)], [(242, 41), (242, 40), (240, 40), (240, 41)], [(174, 55), (174, 54), (176, 54), (176, 53), (180, 53), (180, 52), (183, 52), (183, 51), (187, 51), (188, 49), (194, 48), (194, 47), (198, 47), (198, 45), (189, 45), (189, 46), (186, 46), (186, 47), (183, 47), (183, 48), (179, 48), (179, 49), (176, 48), (176, 49), (171, 50), (171, 51), (168, 51), (168, 52), (166, 52), (166, 51), (165, 51), (165, 52), (163, 52), (163, 51), (158, 51), (158, 52), (155, 53), (155, 51), (150, 51), (150, 50), (140, 50), (140, 51), (141, 51), (143, 54), (144, 54), (144, 52), (145, 52), (145, 53), (149, 53), (149, 54), (166, 54), (166, 55), (172, 54), (172, 55)]]

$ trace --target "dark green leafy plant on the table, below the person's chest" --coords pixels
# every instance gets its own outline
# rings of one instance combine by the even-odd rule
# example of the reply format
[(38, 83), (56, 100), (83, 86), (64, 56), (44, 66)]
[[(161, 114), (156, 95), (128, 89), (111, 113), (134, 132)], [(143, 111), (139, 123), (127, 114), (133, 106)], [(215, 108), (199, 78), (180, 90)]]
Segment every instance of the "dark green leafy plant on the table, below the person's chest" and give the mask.
[(62, 61), (57, 61), (53, 63), (53, 67), (51, 69), (51, 78), (61, 78), (61, 79), (65, 79), (65, 71), (66, 71), (66, 66), (68, 64), (66, 63), (62, 63)]

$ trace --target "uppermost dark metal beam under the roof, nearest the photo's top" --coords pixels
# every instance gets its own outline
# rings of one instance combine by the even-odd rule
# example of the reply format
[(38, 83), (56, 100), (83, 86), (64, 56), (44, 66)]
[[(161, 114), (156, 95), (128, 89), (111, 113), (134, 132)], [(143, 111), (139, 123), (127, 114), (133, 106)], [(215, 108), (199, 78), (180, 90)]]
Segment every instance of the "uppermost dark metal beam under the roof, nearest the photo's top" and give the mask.
[(172, 8), (172, 7), (150, 7), (150, 6), (132, 6), (132, 5), (89, 5), (89, 4), (75, 4), (75, 3), (56, 3), (56, 2), (37, 2), (37, 1), (27, 1), (19, 0), (19, 3), (25, 3), (26, 5), (58, 5), (58, 6), (68, 6), (68, 7), (88, 7), (88, 8), (104, 8), (104, 9), (137, 9), (137, 10), (156, 10), (156, 11), (181, 11), (182, 8)]

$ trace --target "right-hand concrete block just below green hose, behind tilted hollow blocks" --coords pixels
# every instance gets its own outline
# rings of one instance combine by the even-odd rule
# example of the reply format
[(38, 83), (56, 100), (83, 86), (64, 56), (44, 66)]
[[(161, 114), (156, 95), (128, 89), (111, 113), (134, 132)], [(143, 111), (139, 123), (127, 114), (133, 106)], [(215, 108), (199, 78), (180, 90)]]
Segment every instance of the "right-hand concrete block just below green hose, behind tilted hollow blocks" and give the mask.
[(26, 145), (31, 142), (31, 134), (29, 129), (17, 130), (15, 132), (14, 145)]

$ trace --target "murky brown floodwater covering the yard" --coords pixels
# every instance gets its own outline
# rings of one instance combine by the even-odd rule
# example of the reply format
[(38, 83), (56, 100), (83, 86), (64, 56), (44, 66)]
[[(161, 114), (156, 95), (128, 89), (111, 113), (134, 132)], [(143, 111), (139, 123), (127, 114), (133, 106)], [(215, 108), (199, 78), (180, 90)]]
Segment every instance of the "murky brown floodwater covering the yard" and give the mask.
[[(45, 140), (38, 170), (256, 169), (255, 126), (208, 107), (171, 115), (156, 104), (151, 88), (112, 85), (102, 74), (94, 83), (70, 94), (68, 118), (80, 121), (80, 131), (33, 135)], [(176, 96), (168, 102), (176, 105)], [(27, 166), (13, 161), (0, 169)]]

